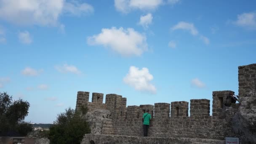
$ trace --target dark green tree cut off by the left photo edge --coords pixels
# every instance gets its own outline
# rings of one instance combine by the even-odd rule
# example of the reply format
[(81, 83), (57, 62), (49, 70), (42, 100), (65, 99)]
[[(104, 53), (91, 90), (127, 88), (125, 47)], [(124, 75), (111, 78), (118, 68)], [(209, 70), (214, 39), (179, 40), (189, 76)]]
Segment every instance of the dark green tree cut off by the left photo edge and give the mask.
[(28, 110), (29, 102), (13, 101), (12, 96), (0, 92), (0, 136), (27, 136), (32, 131), (32, 125), (23, 121)]

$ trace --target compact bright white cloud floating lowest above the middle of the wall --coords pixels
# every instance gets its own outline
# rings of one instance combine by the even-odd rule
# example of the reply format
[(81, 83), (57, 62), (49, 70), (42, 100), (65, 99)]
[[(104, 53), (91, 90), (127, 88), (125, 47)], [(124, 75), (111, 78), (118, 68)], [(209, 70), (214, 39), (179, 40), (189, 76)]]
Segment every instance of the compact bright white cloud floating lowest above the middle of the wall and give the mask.
[(123, 78), (124, 83), (132, 86), (138, 91), (147, 91), (150, 93), (156, 93), (156, 88), (150, 83), (153, 80), (153, 75), (149, 73), (146, 67), (141, 70), (139, 68), (131, 66), (128, 74)]

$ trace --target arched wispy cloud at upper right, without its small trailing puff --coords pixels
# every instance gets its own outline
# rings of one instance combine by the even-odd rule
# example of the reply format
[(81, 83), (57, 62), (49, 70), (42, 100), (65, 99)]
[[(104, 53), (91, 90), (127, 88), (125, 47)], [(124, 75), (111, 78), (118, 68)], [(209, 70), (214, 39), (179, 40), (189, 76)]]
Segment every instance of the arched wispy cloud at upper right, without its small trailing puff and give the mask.
[(171, 28), (171, 30), (177, 30), (177, 29), (183, 29), (183, 30), (187, 30), (189, 31), (192, 35), (197, 35), (198, 31), (195, 28), (194, 24), (191, 23), (187, 23), (184, 21), (180, 21), (178, 24), (176, 24), (175, 26), (173, 26)]

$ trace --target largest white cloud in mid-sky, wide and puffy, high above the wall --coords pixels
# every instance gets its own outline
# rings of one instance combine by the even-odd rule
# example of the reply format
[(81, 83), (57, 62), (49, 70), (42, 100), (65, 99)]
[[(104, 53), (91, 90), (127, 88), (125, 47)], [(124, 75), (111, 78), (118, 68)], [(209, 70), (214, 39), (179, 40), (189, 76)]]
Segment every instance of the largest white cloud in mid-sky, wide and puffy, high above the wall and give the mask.
[(104, 45), (122, 56), (140, 56), (147, 51), (146, 37), (132, 28), (101, 29), (101, 33), (87, 38), (90, 45)]

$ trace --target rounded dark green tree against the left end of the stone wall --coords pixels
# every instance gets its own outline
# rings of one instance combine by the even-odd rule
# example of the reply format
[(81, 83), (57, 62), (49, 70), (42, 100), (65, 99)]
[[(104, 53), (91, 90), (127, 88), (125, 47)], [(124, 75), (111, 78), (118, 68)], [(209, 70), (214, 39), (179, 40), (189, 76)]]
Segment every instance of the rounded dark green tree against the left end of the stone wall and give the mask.
[(49, 139), (51, 144), (80, 144), (85, 133), (90, 133), (88, 123), (82, 117), (86, 108), (74, 110), (70, 107), (57, 116), (50, 127)]

